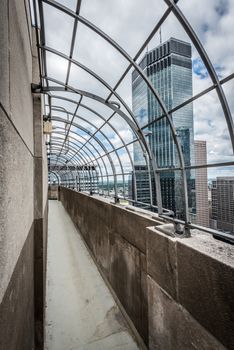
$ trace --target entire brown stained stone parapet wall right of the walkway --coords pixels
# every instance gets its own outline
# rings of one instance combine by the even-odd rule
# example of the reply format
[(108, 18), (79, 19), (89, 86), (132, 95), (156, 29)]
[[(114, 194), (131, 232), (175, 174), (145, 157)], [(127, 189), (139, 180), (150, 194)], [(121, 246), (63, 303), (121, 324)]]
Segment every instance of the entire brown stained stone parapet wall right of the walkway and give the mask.
[(70, 189), (60, 198), (149, 349), (234, 348), (233, 246), (170, 237), (159, 219)]

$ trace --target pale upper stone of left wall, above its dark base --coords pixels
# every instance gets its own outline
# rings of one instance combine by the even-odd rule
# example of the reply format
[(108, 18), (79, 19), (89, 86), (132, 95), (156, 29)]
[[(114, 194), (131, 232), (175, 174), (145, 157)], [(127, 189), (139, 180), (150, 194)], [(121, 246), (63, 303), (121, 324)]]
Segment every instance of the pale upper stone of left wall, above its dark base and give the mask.
[(0, 17), (1, 302), (33, 223), (33, 114), (24, 1), (2, 1)]

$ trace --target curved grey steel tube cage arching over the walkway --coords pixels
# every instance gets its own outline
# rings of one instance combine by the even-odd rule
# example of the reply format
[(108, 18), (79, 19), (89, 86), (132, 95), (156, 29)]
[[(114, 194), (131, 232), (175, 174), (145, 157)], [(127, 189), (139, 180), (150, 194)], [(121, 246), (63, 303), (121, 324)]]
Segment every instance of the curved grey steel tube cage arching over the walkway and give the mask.
[[(181, 145), (180, 142), (178, 140), (177, 137), (177, 133), (176, 133), (176, 129), (174, 127), (172, 118), (171, 118), (171, 114), (173, 112), (175, 112), (176, 110), (179, 110), (180, 108), (183, 108), (185, 105), (192, 103), (194, 100), (198, 99), (199, 97), (205, 95), (206, 93), (212, 91), (212, 90), (216, 90), (220, 104), (222, 106), (222, 110), (226, 119), (226, 123), (227, 123), (227, 127), (228, 127), (228, 131), (229, 131), (229, 135), (230, 135), (230, 139), (231, 139), (231, 143), (232, 143), (232, 148), (234, 150), (234, 124), (233, 124), (233, 120), (232, 120), (232, 116), (231, 116), (231, 112), (229, 109), (229, 105), (227, 103), (226, 100), (226, 96), (224, 94), (223, 88), (222, 88), (222, 84), (230, 79), (232, 79), (234, 77), (234, 74), (230, 75), (229, 77), (223, 79), (223, 80), (219, 80), (218, 76), (215, 72), (215, 69), (212, 65), (212, 63), (210, 62), (210, 59), (204, 49), (204, 47), (202, 46), (201, 42), (199, 41), (195, 31), (193, 30), (193, 28), (191, 27), (191, 25), (189, 24), (189, 22), (187, 21), (186, 17), (183, 15), (183, 13), (181, 12), (181, 10), (179, 9), (179, 7), (177, 6), (177, 0), (164, 0), (164, 2), (166, 3), (166, 5), (168, 6), (167, 10), (164, 12), (163, 16), (160, 18), (160, 20), (158, 21), (158, 23), (156, 24), (156, 26), (154, 27), (153, 31), (151, 32), (151, 34), (148, 36), (148, 38), (146, 39), (145, 43), (142, 45), (142, 47), (140, 48), (140, 50), (138, 51), (138, 53), (135, 55), (135, 57), (132, 59), (128, 53), (117, 43), (115, 42), (112, 38), (110, 38), (106, 33), (104, 33), (102, 30), (100, 30), (98, 27), (96, 27), (93, 23), (89, 22), (87, 19), (83, 18), (82, 16), (80, 16), (80, 4), (81, 1), (77, 1), (77, 8), (76, 8), (76, 13), (72, 10), (70, 10), (69, 8), (61, 5), (60, 3), (54, 1), (54, 0), (39, 0), (39, 14), (40, 14), (40, 22), (42, 24), (42, 28), (41, 28), (41, 39), (39, 39), (39, 36), (37, 35), (37, 43), (38, 43), (38, 50), (41, 51), (42, 56), (40, 56), (40, 54), (38, 55), (39, 58), (42, 57), (42, 61), (43, 61), (43, 66), (41, 67), (41, 81), (42, 83), (44, 81), (46, 81), (46, 87), (42, 86), (41, 91), (42, 92), (48, 92), (48, 91), (56, 91), (56, 90), (62, 90), (62, 88), (60, 87), (49, 87), (48, 82), (54, 82), (57, 83), (59, 85), (61, 85), (63, 87), (62, 91), (72, 91), (75, 93), (78, 93), (81, 95), (81, 99), (83, 96), (86, 96), (88, 98), (93, 99), (94, 101), (103, 103), (105, 106), (111, 108), (114, 113), (118, 113), (125, 121), (127, 121), (128, 116), (123, 113), (123, 111), (121, 111), (119, 108), (116, 108), (114, 103), (110, 103), (108, 102), (110, 97), (114, 94), (116, 96), (116, 98), (122, 103), (122, 105), (125, 107), (125, 109), (127, 110), (127, 112), (130, 114), (130, 116), (132, 117), (133, 121), (129, 119), (129, 126), (130, 128), (133, 130), (133, 132), (135, 133), (137, 140), (140, 143), (140, 146), (142, 147), (142, 152), (145, 155), (149, 156), (149, 160), (148, 162), (146, 162), (148, 164), (148, 171), (150, 169), (150, 165), (149, 162), (151, 163), (151, 166), (153, 168), (153, 173), (155, 176), (155, 184), (156, 184), (156, 193), (157, 193), (157, 201), (158, 201), (158, 208), (159, 208), (159, 214), (162, 214), (162, 199), (161, 199), (161, 188), (160, 188), (160, 173), (163, 173), (165, 171), (181, 171), (182, 174), (182, 179), (183, 179), (183, 189), (184, 189), (184, 206), (185, 206), (185, 225), (188, 225), (191, 227), (191, 223), (189, 222), (189, 210), (188, 210), (188, 191), (187, 191), (187, 179), (186, 179), (186, 170), (188, 169), (197, 169), (197, 168), (209, 168), (209, 167), (217, 167), (217, 166), (229, 166), (229, 165), (233, 165), (234, 162), (223, 162), (223, 163), (214, 163), (214, 164), (204, 164), (204, 165), (191, 165), (191, 166), (185, 166), (184, 164), (184, 157), (183, 157), (183, 153), (182, 153), (182, 149), (181, 149)], [(64, 12), (65, 14), (71, 16), (74, 18), (74, 26), (73, 26), (73, 33), (72, 33), (72, 42), (71, 42), (71, 46), (70, 46), (70, 55), (69, 57), (56, 51), (53, 50), (51, 48), (48, 48), (45, 46), (45, 33), (44, 33), (44, 17), (43, 17), (43, 3), (49, 4), (50, 6), (53, 6), (54, 8), (56, 8), (57, 10), (60, 10), (62, 12)], [(35, 4), (35, 0), (34, 0), (34, 4)], [(37, 20), (37, 13), (36, 13), (36, 7), (35, 7), (35, 18)], [(197, 49), (210, 77), (211, 80), (213, 82), (213, 86), (209, 87), (208, 89), (202, 91), (201, 93), (193, 96), (192, 98), (188, 99), (187, 101), (183, 102), (182, 104), (180, 104), (179, 106), (174, 107), (173, 109), (171, 109), (170, 111), (167, 110), (166, 106), (164, 105), (162, 99), (160, 98), (157, 90), (154, 88), (153, 84), (151, 83), (151, 81), (149, 80), (149, 78), (144, 74), (144, 72), (142, 71), (142, 69), (139, 67), (139, 65), (136, 64), (136, 60), (137, 58), (140, 56), (141, 52), (144, 50), (144, 48), (146, 47), (147, 43), (153, 38), (153, 36), (155, 35), (155, 33), (159, 30), (160, 26), (164, 23), (164, 21), (166, 20), (166, 18), (168, 17), (168, 15), (173, 12), (174, 15), (176, 16), (176, 18), (178, 19), (179, 23), (182, 25), (182, 27), (184, 28), (184, 30), (186, 31), (186, 33), (188, 34), (188, 36), (190, 37), (191, 41), (193, 42), (195, 48)], [(99, 35), (100, 37), (102, 37), (104, 40), (106, 40), (112, 47), (114, 47), (128, 62), (129, 62), (129, 66), (127, 67), (127, 69), (125, 70), (125, 72), (123, 73), (123, 75), (121, 76), (121, 78), (118, 80), (118, 82), (116, 83), (114, 88), (111, 88), (108, 83), (102, 79), (101, 77), (99, 77), (95, 72), (89, 70), (86, 66), (81, 65), (79, 62), (73, 60), (72, 55), (73, 55), (73, 50), (74, 50), (74, 44), (75, 44), (75, 36), (76, 36), (76, 31), (77, 31), (77, 25), (78, 23), (81, 22), (83, 25), (87, 26), (90, 30), (92, 30), (93, 32), (95, 32), (97, 35)], [(38, 27), (37, 27), (38, 30)], [(47, 76), (47, 69), (46, 69), (46, 51), (53, 51), (54, 54), (63, 57), (64, 59), (68, 60), (68, 70), (67, 70), (67, 77), (66, 77), (66, 82), (65, 84), (50, 78)], [(52, 52), (51, 51), (51, 52)], [(110, 90), (110, 94), (108, 95), (106, 100), (103, 100), (102, 98), (100, 98), (99, 96), (96, 96), (94, 94), (90, 94), (89, 92), (86, 91), (81, 91), (78, 89), (74, 89), (73, 87), (68, 85), (68, 81), (69, 81), (69, 74), (70, 74), (70, 68), (71, 68), (71, 64), (75, 64), (77, 66), (79, 66), (81, 69), (86, 70), (86, 72), (88, 72), (89, 74), (91, 74), (95, 79), (97, 79), (99, 82), (101, 82), (104, 86), (106, 86), (109, 90)], [(138, 72), (138, 74), (142, 77), (142, 79), (144, 80), (144, 82), (146, 83), (148, 89), (151, 91), (151, 93), (153, 94), (154, 98), (157, 100), (163, 114), (156, 118), (155, 120), (151, 121), (150, 123), (147, 123), (146, 125), (139, 127), (138, 122), (136, 120), (136, 118), (134, 117), (134, 115), (132, 114), (131, 110), (128, 108), (128, 106), (125, 104), (125, 102), (122, 100), (122, 98), (116, 93), (116, 89), (118, 88), (118, 86), (121, 84), (121, 82), (123, 81), (124, 77), (126, 76), (126, 74), (129, 72), (130, 68), (134, 67), (135, 70)], [(43, 84), (44, 85), (44, 84)], [(51, 104), (51, 98), (49, 97), (49, 104)], [(50, 106), (51, 107), (51, 106)], [(77, 109), (78, 109), (78, 105), (77, 105)], [(66, 139), (68, 137), (68, 134), (70, 132), (70, 128), (71, 125), (74, 125), (75, 127), (77, 127), (74, 123), (73, 123), (73, 119), (75, 118), (77, 109), (72, 117), (72, 121), (70, 123), (70, 127), (69, 127), (69, 131), (67, 132), (65, 139), (64, 139), (64, 143), (66, 142)], [(52, 110), (52, 108), (50, 108), (50, 111)], [(81, 118), (80, 116), (77, 116), (78, 118)], [(111, 116), (112, 117), (112, 116)], [(108, 121), (111, 119), (111, 117), (108, 119)], [(146, 127), (152, 125), (153, 123), (157, 122), (158, 120), (162, 119), (162, 118), (166, 118), (166, 120), (169, 123), (169, 127), (171, 130), (171, 134), (172, 134), (172, 138), (174, 140), (175, 146), (177, 148), (177, 152), (178, 152), (178, 156), (179, 156), (179, 167), (174, 167), (174, 168), (158, 168), (158, 164), (157, 164), (157, 160), (154, 158), (151, 150), (149, 149), (149, 145), (146, 142), (146, 139), (144, 137), (143, 134), (143, 129), (145, 129)], [(104, 118), (102, 118), (104, 120)], [(105, 121), (104, 124), (100, 127), (97, 128), (94, 124), (92, 124), (91, 122), (89, 122), (87, 119), (83, 120), (87, 123), (89, 123), (91, 126), (93, 126), (94, 128), (96, 128), (95, 132), (93, 134), (88, 132), (88, 135), (90, 136), (89, 141), (93, 138), (96, 142), (97, 140), (95, 139), (95, 135), (97, 134), (97, 132), (100, 132), (104, 137), (105, 134), (103, 134), (101, 132), (101, 128), (105, 125), (108, 124), (108, 121)], [(109, 124), (111, 126), (111, 123)], [(118, 135), (118, 133), (117, 133)], [(77, 140), (76, 140), (77, 141)], [(86, 140), (87, 141), (87, 140)], [(86, 147), (87, 142), (85, 141), (85, 145), (82, 145), (80, 147), (79, 150), (77, 150), (76, 153), (81, 152), (82, 149), (84, 147)], [(134, 141), (134, 142), (136, 142)], [(63, 143), (63, 145), (64, 145)], [(102, 142), (101, 142), (102, 143)], [(109, 142), (110, 143), (110, 142)], [(111, 146), (113, 146), (110, 143)], [(124, 146), (126, 150), (128, 150), (127, 144), (124, 143)], [(63, 146), (62, 146), (63, 148)], [(62, 148), (60, 150), (59, 155), (62, 152)], [(121, 147), (122, 148), (122, 147)], [(105, 155), (101, 156), (101, 158), (105, 157), (106, 155), (110, 155), (110, 153), (115, 152), (115, 154), (118, 157), (118, 153), (117, 153), (117, 149), (114, 149), (111, 152), (108, 152), (107, 149), (104, 147), (105, 149)], [(73, 156), (74, 157), (74, 156)], [(72, 160), (73, 157), (70, 159)], [(98, 157), (100, 158), (100, 157)], [(96, 158), (96, 160), (98, 159)], [(132, 161), (131, 156), (129, 157), (130, 161)], [(147, 156), (145, 158), (148, 158)], [(120, 158), (118, 157), (118, 161), (120, 163), (120, 167), (122, 170), (122, 174), (123, 174), (123, 167), (122, 167), (122, 163)], [(131, 163), (133, 165), (133, 162)], [(115, 167), (114, 167), (115, 168)], [(133, 170), (134, 170), (134, 165), (133, 165)], [(124, 179), (124, 177), (123, 177)], [(116, 185), (116, 181), (115, 181), (115, 185)], [(117, 193), (117, 190), (116, 190)], [(151, 196), (152, 196), (152, 191), (151, 191)], [(152, 202), (152, 199), (151, 199)], [(152, 204), (152, 203), (151, 203)]]

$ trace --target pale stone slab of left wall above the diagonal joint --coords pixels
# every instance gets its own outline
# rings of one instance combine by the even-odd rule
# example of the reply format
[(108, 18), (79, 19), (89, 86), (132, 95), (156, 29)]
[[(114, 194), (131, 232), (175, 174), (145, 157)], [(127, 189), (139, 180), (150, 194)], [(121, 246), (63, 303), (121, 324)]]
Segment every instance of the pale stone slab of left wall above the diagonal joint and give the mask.
[(32, 53), (23, 0), (9, 1), (10, 116), (33, 153)]

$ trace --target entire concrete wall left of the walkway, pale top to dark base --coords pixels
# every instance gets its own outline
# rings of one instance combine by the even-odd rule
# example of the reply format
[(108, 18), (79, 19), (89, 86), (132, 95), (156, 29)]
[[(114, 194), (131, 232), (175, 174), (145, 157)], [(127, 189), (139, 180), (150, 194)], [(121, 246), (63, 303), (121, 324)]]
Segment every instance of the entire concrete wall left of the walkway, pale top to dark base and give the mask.
[[(46, 213), (47, 194), (35, 178), (35, 174), (42, 178), (45, 164), (41, 164), (39, 171), (36, 145), (42, 142), (42, 132), (36, 131), (36, 123), (41, 122), (41, 110), (35, 112), (31, 94), (33, 76), (36, 83), (39, 77), (27, 16), (27, 1), (1, 1), (0, 349), (3, 350), (34, 348), (34, 309), (38, 307), (34, 301), (37, 293), (41, 293), (34, 285), (42, 279), (35, 273), (38, 227), (34, 219), (44, 218), (38, 208), (43, 207)], [(37, 102), (40, 106), (40, 99)], [(34, 205), (40, 191), (44, 200)]]

